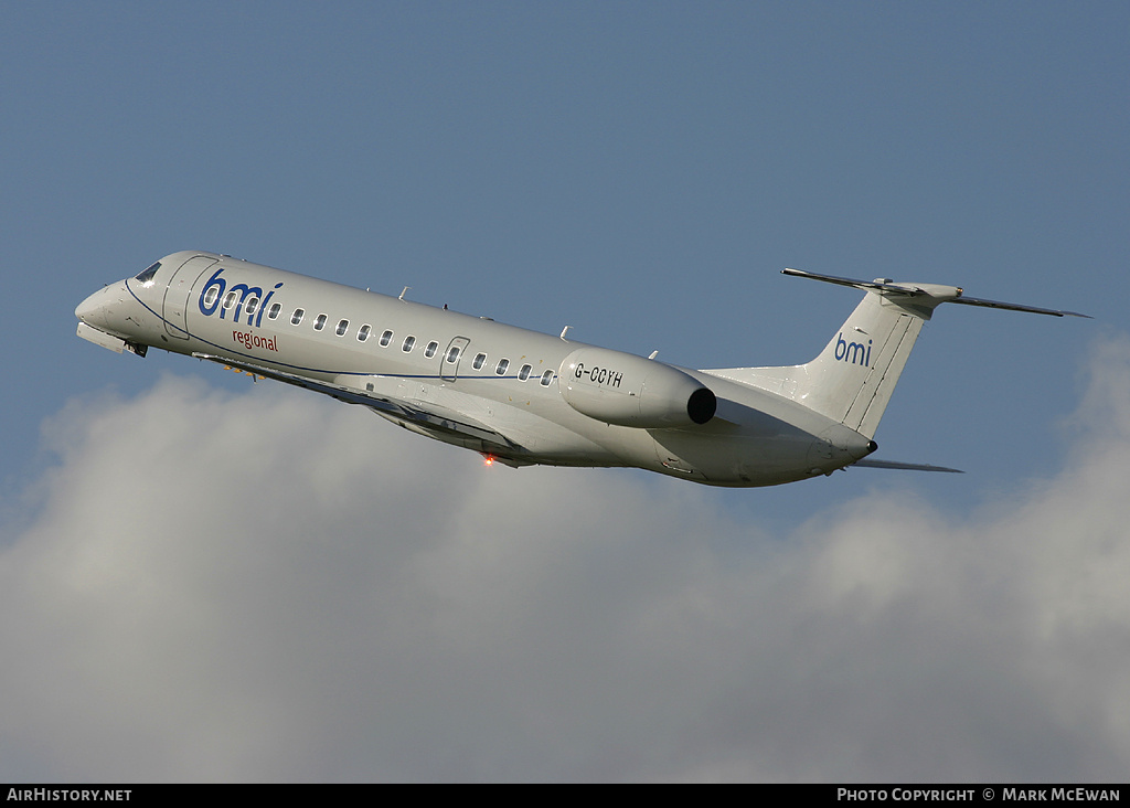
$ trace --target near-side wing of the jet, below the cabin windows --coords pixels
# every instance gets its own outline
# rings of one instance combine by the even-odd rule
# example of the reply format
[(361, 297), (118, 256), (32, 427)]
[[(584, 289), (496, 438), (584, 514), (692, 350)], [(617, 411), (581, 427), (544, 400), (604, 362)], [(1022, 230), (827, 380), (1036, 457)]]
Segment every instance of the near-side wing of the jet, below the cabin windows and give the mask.
[(304, 388), (306, 390), (313, 390), (314, 392), (334, 398), (338, 401), (360, 405), (372, 409), (379, 415), (412, 424), (425, 432), (441, 433), (443, 435), (468, 437), (481, 441), (484, 444), (483, 451), (486, 452), (502, 451), (507, 455), (514, 454), (519, 457), (527, 453), (527, 450), (523, 446), (514, 443), (501, 432), (490, 428), (481, 422), (475, 420), (466, 414), (457, 412), (445, 407), (433, 405), (424, 407), (417, 402), (402, 401), (384, 392), (371, 392), (368, 390), (358, 390), (330, 382), (316, 382), (311, 379), (305, 379), (290, 373), (284, 373), (282, 371), (276, 371), (275, 368), (258, 365), (255, 363), (233, 359), (227, 356), (201, 353), (193, 353), (192, 356), (198, 359), (215, 362), (216, 364), (224, 365), (225, 367), (243, 371), (252, 376), (273, 379), (277, 382), (293, 384), (297, 388)]

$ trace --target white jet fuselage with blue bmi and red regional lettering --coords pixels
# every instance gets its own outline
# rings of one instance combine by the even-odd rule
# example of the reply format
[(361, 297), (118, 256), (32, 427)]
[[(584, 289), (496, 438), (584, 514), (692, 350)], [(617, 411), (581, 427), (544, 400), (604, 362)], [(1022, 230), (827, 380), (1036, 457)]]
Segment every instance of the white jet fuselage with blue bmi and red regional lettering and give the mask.
[[(704, 371), (214, 253), (168, 255), (150, 277), (107, 286), (76, 313), (96, 337), (127, 347), (229, 360), (327, 385), (314, 386), (321, 392), (355, 391), (346, 400), (380, 400), (374, 410), (409, 429), (511, 464), (632, 466), (764, 486), (831, 473), (875, 446), (798, 401)], [(638, 401), (662, 403), (661, 391), (687, 377), (716, 398), (705, 423), (663, 426), (662, 412), (636, 414)], [(632, 412), (584, 414), (599, 415), (605, 401), (628, 402)], [(462, 426), (437, 428), (384, 402)]]

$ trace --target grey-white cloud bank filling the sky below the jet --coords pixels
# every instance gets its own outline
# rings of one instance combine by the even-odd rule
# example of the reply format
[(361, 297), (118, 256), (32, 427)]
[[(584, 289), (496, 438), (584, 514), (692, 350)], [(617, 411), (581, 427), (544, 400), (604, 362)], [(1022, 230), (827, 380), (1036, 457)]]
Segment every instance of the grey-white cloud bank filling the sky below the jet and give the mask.
[(1119, 780), (1130, 341), (1070, 427), (976, 513), (773, 535), (269, 383), (73, 402), (0, 536), (0, 777)]

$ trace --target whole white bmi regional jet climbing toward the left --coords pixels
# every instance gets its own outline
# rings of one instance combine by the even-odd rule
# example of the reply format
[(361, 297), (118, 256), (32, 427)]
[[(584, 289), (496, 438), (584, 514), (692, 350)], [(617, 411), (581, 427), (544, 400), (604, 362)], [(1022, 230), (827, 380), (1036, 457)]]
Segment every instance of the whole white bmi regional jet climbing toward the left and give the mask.
[[(78, 336), (208, 359), (368, 407), (507, 466), (627, 466), (767, 486), (867, 459), (922, 323), (942, 303), (1062, 316), (955, 286), (786, 275), (864, 292), (820, 355), (792, 367), (695, 371), (386, 297), (228, 255), (179, 252), (75, 311)], [(407, 289), (406, 289), (407, 290)]]

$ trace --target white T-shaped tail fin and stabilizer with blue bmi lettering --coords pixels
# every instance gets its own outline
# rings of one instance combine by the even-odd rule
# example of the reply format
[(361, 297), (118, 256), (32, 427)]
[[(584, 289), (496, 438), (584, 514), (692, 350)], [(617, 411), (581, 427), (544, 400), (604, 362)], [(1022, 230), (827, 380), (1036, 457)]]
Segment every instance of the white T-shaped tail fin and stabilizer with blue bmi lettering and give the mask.
[(784, 275), (852, 286), (867, 294), (851, 316), (836, 329), (819, 356), (791, 367), (734, 367), (709, 371), (714, 375), (785, 396), (820, 415), (873, 437), (890, 401), (911, 349), (942, 303), (1007, 309), (1053, 316), (1087, 316), (1076, 312), (1037, 309), (965, 297), (957, 286), (896, 284), (886, 278), (873, 281), (785, 269)]

